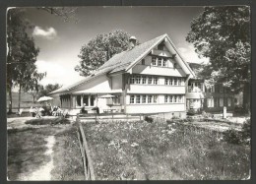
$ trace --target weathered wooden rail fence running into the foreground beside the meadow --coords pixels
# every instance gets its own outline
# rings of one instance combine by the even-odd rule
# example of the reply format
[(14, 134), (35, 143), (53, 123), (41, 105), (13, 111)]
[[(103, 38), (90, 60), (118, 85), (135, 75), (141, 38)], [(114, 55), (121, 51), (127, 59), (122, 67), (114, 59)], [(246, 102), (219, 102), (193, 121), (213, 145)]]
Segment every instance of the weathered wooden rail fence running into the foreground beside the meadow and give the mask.
[(85, 179), (96, 180), (95, 171), (93, 167), (93, 160), (90, 156), (85, 132), (79, 119), (77, 119), (77, 123), (78, 123), (77, 135), (79, 140), (80, 153), (83, 160)]

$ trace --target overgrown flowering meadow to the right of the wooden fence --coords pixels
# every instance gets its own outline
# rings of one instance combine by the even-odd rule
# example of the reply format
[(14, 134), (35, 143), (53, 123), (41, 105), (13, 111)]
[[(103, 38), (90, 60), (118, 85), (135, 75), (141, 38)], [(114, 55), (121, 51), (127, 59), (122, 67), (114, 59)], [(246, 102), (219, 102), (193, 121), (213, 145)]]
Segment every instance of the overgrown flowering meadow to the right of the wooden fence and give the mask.
[(244, 179), (250, 148), (165, 122), (83, 124), (97, 180)]

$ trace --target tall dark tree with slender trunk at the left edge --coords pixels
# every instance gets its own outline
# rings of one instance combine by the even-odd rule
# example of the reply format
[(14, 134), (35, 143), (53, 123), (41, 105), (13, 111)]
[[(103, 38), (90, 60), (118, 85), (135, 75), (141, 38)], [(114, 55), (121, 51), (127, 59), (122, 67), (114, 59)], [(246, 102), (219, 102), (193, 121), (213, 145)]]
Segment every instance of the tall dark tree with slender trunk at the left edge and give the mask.
[(38, 73), (35, 66), (39, 49), (35, 48), (32, 37), (27, 33), (32, 26), (24, 19), (23, 9), (8, 11), (7, 20), (7, 91), (9, 92), (9, 113), (12, 112), (12, 89), (19, 86), (19, 106), (21, 91), (29, 91), (35, 81), (41, 80), (45, 74)]

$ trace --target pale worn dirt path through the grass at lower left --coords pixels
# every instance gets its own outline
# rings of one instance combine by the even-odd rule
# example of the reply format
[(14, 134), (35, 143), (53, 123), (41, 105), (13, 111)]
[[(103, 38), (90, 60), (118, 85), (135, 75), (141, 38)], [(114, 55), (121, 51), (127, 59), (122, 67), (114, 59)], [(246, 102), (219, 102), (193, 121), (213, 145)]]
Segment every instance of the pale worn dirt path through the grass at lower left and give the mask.
[(55, 144), (55, 137), (48, 136), (45, 141), (47, 142), (46, 147), (47, 150), (45, 154), (50, 155), (50, 161), (42, 166), (40, 166), (37, 170), (34, 170), (30, 175), (21, 175), (20, 180), (29, 180), (29, 181), (47, 181), (51, 180), (51, 170), (53, 169), (53, 146)]

